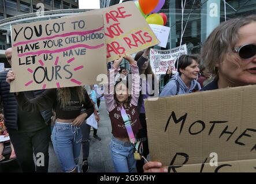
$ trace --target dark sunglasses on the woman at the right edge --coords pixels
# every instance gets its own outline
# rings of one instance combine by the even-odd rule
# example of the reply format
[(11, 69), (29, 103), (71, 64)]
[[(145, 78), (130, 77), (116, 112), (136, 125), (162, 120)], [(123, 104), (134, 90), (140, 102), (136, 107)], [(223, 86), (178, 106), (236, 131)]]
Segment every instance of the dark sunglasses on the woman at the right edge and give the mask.
[(235, 52), (238, 52), (238, 55), (242, 59), (250, 59), (256, 55), (256, 45), (255, 44), (246, 44), (241, 47), (235, 47)]

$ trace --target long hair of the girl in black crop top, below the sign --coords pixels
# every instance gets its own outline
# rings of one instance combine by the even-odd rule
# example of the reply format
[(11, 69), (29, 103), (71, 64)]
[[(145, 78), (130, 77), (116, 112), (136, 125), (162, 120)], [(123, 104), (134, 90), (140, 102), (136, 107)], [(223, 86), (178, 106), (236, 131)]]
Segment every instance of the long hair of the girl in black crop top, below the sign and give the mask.
[[(73, 87), (79, 97), (79, 102), (82, 104), (85, 101), (84, 94), (86, 90), (82, 86)], [(71, 101), (71, 87), (62, 87), (57, 89), (57, 97), (58, 101), (61, 102), (61, 106), (68, 106), (70, 105)]]

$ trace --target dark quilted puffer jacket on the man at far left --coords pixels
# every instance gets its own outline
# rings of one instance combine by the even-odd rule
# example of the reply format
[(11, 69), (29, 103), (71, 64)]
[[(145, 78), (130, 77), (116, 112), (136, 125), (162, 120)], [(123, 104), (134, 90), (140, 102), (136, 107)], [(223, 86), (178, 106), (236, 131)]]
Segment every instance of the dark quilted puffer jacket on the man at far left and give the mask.
[[(10, 93), (10, 85), (5, 81), (8, 71), (0, 72), (0, 103), (3, 102), (5, 125), (8, 129), (18, 130), (18, 104), (13, 93)], [(43, 93), (43, 90), (33, 91), (34, 96)], [(53, 116), (51, 109), (40, 112), (47, 123)]]

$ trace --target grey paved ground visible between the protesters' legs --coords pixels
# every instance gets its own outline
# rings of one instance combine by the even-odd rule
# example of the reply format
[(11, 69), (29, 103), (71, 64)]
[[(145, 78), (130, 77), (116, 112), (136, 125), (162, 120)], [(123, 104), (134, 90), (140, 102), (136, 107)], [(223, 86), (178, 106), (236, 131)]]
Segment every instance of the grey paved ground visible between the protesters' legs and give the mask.
[[(91, 131), (91, 141), (90, 141), (90, 155), (88, 158), (88, 163), (90, 166), (89, 173), (112, 173), (114, 172), (113, 163), (110, 156), (109, 143), (112, 137), (111, 124), (109, 116), (107, 116), (107, 110), (105, 101), (101, 101), (99, 107), (99, 116), (101, 117), (101, 122), (99, 123), (97, 135), (101, 137), (101, 141), (97, 141), (92, 137), (93, 131)], [(57, 157), (53, 150), (53, 145), (50, 143), (49, 148), (50, 162), (49, 162), (49, 172), (62, 172), (60, 164), (58, 163)], [(80, 166), (82, 164), (82, 152), (80, 154)]]

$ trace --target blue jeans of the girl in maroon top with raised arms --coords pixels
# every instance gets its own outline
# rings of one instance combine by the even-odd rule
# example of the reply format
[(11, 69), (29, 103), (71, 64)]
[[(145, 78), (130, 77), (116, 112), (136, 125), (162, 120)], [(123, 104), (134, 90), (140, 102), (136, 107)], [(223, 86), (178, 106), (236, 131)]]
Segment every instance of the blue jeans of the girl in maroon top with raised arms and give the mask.
[(135, 173), (136, 160), (133, 156), (133, 144), (125, 143), (114, 136), (110, 142), (111, 158), (116, 173)]

